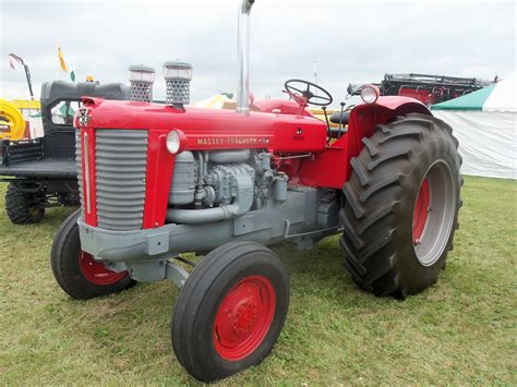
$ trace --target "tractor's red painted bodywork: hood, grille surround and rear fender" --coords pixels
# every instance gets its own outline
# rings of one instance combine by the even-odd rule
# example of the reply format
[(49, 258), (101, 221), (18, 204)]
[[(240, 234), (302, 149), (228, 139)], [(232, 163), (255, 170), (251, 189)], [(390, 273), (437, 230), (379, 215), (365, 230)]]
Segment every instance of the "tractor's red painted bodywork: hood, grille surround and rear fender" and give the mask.
[[(315, 188), (341, 189), (350, 176), (350, 158), (362, 149), (361, 138), (373, 134), (374, 125), (386, 123), (396, 116), (408, 112), (430, 114), (424, 105), (405, 97), (381, 97), (374, 105), (362, 105), (350, 114), (348, 133), (332, 145), (327, 144), (327, 128), (308, 110), (296, 114), (298, 105), (286, 100), (257, 101), (254, 107), (263, 111), (239, 114), (230, 110), (113, 101), (83, 98), (84, 108), (91, 117), (87, 126), (89, 146), (89, 195), (91, 214), (85, 211), (85, 221), (97, 226), (95, 208), (95, 128), (135, 129), (148, 131), (146, 201), (144, 228), (160, 227), (165, 214), (172, 179), (175, 157), (168, 153), (166, 136), (170, 130), (180, 130), (187, 137), (184, 149), (267, 149), (279, 155), (312, 154), (310, 158), (284, 162), (291, 183)], [(272, 113), (280, 109), (279, 113)], [(269, 111), (269, 112), (264, 112)], [(79, 126), (75, 118), (75, 126)], [(83, 177), (85, 170), (83, 167)], [(86, 188), (85, 181), (83, 186)]]

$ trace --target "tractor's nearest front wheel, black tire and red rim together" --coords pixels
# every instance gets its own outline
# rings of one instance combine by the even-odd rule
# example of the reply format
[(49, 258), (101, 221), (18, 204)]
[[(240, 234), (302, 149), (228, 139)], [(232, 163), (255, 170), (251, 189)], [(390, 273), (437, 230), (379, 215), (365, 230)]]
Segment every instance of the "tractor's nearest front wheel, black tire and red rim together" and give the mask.
[(253, 242), (224, 244), (180, 291), (171, 329), (176, 356), (202, 382), (257, 364), (277, 341), (288, 306), (288, 275), (270, 250)]

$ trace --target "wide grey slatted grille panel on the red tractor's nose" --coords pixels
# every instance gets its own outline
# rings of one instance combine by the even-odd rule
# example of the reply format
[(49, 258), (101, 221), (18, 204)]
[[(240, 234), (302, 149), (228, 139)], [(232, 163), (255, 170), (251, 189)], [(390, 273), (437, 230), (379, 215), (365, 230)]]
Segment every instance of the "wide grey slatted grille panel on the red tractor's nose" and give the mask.
[(98, 227), (142, 228), (147, 131), (100, 129), (95, 134)]

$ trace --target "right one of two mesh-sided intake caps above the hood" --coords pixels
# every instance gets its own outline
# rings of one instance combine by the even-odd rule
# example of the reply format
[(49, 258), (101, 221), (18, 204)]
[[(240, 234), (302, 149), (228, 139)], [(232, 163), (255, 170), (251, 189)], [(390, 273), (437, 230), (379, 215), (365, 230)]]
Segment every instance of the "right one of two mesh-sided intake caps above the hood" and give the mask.
[(190, 102), (190, 81), (192, 64), (179, 61), (164, 63), (164, 77), (167, 84), (166, 102), (170, 105), (188, 105)]

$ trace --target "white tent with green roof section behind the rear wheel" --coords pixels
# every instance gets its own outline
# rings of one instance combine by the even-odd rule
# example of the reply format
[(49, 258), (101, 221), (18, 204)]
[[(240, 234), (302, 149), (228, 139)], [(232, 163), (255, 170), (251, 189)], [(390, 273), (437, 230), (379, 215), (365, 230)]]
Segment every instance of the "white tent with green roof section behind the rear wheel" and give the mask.
[(515, 74), (466, 96), (431, 107), (459, 141), (461, 173), (517, 179)]

